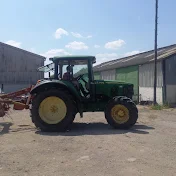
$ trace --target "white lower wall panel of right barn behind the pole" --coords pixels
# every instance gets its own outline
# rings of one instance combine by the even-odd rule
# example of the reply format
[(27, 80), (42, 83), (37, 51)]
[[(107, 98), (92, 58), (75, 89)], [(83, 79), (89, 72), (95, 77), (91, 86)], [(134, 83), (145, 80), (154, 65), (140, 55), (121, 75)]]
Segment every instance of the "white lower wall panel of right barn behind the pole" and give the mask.
[[(139, 101), (153, 101), (154, 90), (153, 87), (140, 87), (139, 86)], [(157, 87), (156, 89), (156, 101), (159, 104), (163, 104), (163, 88)]]

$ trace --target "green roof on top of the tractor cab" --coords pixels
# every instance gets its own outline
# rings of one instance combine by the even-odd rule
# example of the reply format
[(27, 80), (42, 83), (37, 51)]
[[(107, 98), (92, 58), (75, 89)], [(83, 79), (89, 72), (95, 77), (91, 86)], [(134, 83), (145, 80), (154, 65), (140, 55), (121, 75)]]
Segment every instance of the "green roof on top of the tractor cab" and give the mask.
[(84, 55), (69, 55), (69, 56), (55, 56), (53, 58), (50, 58), (49, 60), (53, 61), (53, 62), (57, 62), (60, 60), (92, 60), (92, 62), (95, 62), (95, 56), (84, 56)]

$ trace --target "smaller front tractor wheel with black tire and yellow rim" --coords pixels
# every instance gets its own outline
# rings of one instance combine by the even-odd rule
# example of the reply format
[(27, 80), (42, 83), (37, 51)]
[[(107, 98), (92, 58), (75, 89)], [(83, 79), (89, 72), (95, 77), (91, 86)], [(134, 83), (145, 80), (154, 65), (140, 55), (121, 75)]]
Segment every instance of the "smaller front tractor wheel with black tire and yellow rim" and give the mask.
[(131, 99), (114, 97), (107, 104), (105, 118), (114, 128), (129, 129), (138, 119), (138, 110)]

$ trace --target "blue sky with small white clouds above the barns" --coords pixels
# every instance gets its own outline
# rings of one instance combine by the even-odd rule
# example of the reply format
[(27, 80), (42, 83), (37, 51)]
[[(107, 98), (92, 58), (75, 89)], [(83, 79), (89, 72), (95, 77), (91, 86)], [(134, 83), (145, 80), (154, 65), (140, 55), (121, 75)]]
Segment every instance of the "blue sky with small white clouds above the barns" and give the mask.
[[(159, 0), (158, 46), (176, 43), (175, 0)], [(0, 41), (101, 63), (154, 48), (155, 0), (1, 0)]]

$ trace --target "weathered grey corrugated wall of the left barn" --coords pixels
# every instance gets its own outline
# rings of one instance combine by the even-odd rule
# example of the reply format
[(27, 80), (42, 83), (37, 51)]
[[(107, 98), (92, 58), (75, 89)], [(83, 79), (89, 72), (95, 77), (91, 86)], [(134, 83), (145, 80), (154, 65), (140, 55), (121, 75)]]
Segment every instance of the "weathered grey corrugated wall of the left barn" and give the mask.
[(44, 57), (0, 43), (0, 84), (34, 84), (44, 74)]

